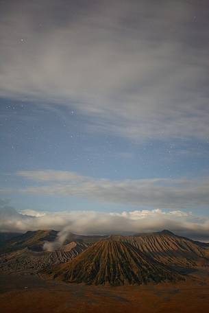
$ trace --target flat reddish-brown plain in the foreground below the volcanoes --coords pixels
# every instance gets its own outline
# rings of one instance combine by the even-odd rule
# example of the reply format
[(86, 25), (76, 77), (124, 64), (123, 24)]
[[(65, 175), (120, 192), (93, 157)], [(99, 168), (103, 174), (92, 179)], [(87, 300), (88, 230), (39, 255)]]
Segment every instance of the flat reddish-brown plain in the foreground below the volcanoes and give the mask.
[(0, 275), (3, 313), (209, 312), (209, 275), (141, 286), (86, 286), (44, 281), (37, 275)]

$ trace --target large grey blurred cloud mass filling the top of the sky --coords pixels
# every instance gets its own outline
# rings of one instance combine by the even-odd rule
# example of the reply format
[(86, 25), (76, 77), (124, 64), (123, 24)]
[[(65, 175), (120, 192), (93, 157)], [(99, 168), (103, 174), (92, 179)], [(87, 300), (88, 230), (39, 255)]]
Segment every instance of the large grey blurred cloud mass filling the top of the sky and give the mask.
[(5, 1), (0, 95), (69, 106), (93, 132), (206, 139), (208, 5), (195, 3)]

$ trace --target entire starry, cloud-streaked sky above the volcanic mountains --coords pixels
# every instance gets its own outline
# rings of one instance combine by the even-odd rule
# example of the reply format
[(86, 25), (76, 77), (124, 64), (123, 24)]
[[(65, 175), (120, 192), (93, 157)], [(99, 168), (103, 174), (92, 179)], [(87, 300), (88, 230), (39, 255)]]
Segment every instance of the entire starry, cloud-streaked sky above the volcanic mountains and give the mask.
[(206, 0), (0, 0), (1, 231), (209, 240)]

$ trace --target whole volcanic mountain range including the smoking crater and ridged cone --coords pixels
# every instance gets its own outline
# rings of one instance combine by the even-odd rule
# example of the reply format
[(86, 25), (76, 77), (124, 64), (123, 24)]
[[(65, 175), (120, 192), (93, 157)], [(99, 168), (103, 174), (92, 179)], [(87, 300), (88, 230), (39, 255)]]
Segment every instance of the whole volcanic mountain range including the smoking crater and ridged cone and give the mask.
[[(136, 235), (64, 234), (27, 231), (0, 245), (1, 273), (39, 273), (67, 282), (147, 283), (182, 279), (180, 274), (209, 268), (209, 247), (164, 230)], [(45, 250), (46, 243), (49, 248)], [(54, 250), (55, 249), (55, 250)]]

